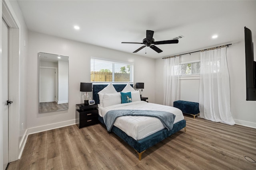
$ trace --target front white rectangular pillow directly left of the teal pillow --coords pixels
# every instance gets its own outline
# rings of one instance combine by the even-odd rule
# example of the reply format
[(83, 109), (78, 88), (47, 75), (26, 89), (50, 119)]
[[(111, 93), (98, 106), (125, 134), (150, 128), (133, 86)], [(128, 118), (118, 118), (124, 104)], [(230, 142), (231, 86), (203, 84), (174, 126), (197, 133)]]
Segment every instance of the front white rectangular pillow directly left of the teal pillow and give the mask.
[(117, 93), (105, 93), (102, 99), (103, 107), (121, 104), (121, 94)]

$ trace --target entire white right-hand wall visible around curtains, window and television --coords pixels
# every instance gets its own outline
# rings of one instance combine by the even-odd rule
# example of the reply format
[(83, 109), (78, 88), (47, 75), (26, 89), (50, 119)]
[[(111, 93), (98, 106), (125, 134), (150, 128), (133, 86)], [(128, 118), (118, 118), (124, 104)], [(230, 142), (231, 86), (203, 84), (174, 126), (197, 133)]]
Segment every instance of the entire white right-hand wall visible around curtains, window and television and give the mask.
[[(256, 42), (256, 38), (253, 38)], [(254, 47), (254, 54), (256, 48)], [(181, 62), (200, 59), (200, 53), (181, 56)], [(231, 113), (236, 124), (256, 128), (256, 101), (246, 101), (246, 74), (245, 74), (245, 50), (244, 40), (233, 43), (227, 48), (228, 70), (230, 74), (230, 97)], [(256, 56), (254, 55), (254, 60)], [(156, 59), (156, 94), (155, 100), (163, 104), (163, 66), (164, 59)], [(180, 99), (191, 102), (199, 102), (199, 79), (192, 77), (191, 80), (181, 78)]]

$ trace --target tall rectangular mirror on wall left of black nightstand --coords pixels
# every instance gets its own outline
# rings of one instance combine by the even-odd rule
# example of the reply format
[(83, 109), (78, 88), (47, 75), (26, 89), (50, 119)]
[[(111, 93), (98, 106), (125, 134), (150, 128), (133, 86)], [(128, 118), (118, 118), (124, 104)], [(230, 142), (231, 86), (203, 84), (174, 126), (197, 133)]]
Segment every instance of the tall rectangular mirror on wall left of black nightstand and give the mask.
[(39, 53), (39, 113), (68, 109), (68, 56)]

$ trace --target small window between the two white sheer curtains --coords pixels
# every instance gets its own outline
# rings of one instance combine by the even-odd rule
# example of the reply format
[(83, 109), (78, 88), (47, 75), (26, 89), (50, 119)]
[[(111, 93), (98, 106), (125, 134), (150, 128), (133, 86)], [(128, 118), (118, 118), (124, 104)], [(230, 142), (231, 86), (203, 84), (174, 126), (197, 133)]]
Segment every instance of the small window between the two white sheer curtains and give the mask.
[(180, 75), (200, 74), (200, 61), (180, 64)]

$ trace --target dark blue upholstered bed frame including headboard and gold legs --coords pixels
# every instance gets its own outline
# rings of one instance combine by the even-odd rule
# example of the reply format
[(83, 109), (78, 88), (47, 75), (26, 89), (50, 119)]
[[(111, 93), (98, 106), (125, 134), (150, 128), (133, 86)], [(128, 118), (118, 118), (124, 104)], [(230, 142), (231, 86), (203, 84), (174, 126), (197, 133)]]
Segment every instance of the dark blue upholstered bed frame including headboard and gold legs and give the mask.
[[(100, 103), (98, 92), (105, 88), (108, 84), (94, 84), (93, 85), (93, 99), (96, 104)], [(117, 92), (121, 92), (126, 84), (113, 84)], [(132, 85), (131, 85), (132, 86)], [(103, 118), (99, 116), (99, 121), (105, 125)], [(123, 139), (128, 145), (133, 147), (136, 152), (138, 153), (139, 160), (141, 160), (142, 153), (145, 152), (146, 149), (149, 147), (152, 147), (156, 145), (158, 142), (164, 140), (165, 138), (169, 137), (170, 135), (176, 133), (177, 131), (180, 131), (181, 129), (186, 127), (186, 120), (179, 121), (173, 125), (173, 128), (168, 131), (166, 128), (162, 129), (144, 139), (141, 139), (139, 141), (136, 141), (132, 137), (126, 135), (122, 130), (120, 130), (118, 127), (113, 126), (111, 131), (118, 135), (121, 139)]]

